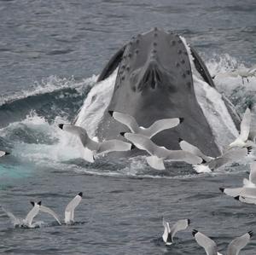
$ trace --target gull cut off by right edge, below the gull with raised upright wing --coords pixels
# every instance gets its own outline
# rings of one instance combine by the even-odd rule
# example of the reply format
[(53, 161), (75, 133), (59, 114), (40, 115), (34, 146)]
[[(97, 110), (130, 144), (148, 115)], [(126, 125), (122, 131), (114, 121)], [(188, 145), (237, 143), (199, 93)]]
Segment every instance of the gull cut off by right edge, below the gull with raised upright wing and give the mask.
[(251, 171), (249, 175), (249, 179), (243, 179), (243, 187), (240, 188), (219, 188), (221, 192), (224, 194), (230, 195), (232, 197), (244, 196), (247, 198), (256, 199), (256, 161), (250, 166)]

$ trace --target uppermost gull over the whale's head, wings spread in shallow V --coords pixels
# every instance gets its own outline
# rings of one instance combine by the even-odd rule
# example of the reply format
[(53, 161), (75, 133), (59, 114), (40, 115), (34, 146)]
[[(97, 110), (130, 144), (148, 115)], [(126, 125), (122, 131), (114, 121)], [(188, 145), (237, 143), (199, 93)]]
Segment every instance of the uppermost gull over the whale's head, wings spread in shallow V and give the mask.
[(147, 136), (148, 138), (153, 137), (162, 130), (172, 129), (173, 127), (181, 124), (183, 118), (173, 118), (173, 119), (160, 119), (150, 125), (148, 128), (139, 126), (136, 119), (131, 115), (119, 112), (108, 111), (108, 113), (120, 123), (126, 125), (132, 133)]

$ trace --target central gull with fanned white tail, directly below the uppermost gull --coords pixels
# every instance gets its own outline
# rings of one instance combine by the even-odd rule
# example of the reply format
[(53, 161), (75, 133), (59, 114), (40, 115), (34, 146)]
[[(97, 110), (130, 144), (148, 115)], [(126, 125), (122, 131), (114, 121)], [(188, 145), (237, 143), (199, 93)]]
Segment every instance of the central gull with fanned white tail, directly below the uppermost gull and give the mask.
[(169, 150), (165, 147), (157, 146), (152, 142), (148, 137), (133, 134), (125, 133), (125, 138), (132, 142), (137, 148), (146, 150), (150, 157), (147, 157), (146, 160), (148, 165), (157, 170), (165, 170), (164, 159), (171, 159), (172, 161), (185, 161), (189, 164), (201, 164), (202, 159), (194, 154), (184, 152), (183, 150)]

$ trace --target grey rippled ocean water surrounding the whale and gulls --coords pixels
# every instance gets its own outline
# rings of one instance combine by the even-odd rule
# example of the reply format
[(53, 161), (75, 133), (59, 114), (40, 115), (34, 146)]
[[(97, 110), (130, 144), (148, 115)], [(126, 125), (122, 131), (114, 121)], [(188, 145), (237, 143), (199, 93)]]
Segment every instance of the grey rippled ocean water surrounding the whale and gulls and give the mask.
[[(71, 121), (84, 106), (90, 134), (100, 118), (96, 95), (108, 104), (114, 74), (96, 77), (108, 59), (138, 32), (158, 26), (178, 32), (200, 53), (219, 91), (238, 113), (256, 103), (256, 78), (241, 82), (219, 73), (256, 62), (253, 1), (0, 1), (0, 205), (26, 217), (30, 200), (42, 200), (64, 217), (80, 191), (84, 199), (72, 226), (44, 221), (38, 229), (15, 229), (0, 208), (2, 254), (205, 254), (192, 229), (211, 236), (218, 251), (249, 230), (256, 233), (256, 206), (221, 194), (237, 187), (248, 160), (212, 174), (189, 165), (154, 171), (144, 157), (101, 158), (86, 163), (81, 149), (57, 123)], [(104, 96), (102, 96), (104, 95)], [(84, 101), (85, 100), (85, 101)], [(87, 105), (86, 105), (87, 104)], [(256, 127), (256, 107), (253, 125)], [(255, 118), (254, 118), (255, 117)], [(161, 241), (162, 217), (191, 219), (172, 246)], [(256, 254), (253, 239), (241, 254)]]

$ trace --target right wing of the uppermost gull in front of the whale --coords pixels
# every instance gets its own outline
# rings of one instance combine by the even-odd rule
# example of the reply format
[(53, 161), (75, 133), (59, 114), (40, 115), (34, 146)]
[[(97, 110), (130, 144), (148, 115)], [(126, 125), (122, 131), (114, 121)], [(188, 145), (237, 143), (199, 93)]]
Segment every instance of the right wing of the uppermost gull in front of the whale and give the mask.
[(148, 127), (145, 132), (147, 133), (148, 137), (151, 138), (162, 130), (172, 129), (173, 127), (179, 125), (181, 121), (182, 119), (179, 118), (160, 119), (155, 121), (153, 125)]

